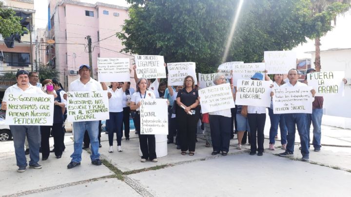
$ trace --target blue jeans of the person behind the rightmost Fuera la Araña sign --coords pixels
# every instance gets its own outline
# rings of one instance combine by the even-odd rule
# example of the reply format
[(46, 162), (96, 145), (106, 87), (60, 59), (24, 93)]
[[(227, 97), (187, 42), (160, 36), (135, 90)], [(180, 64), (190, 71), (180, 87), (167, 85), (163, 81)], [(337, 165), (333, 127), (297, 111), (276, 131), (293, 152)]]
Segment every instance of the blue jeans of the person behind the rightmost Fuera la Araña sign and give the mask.
[(311, 122), (313, 125), (313, 139), (312, 144), (314, 148), (320, 148), (320, 139), (322, 136), (321, 125), (322, 125), (323, 109), (313, 109), (312, 114), (307, 114), (306, 130), (308, 135), (309, 147), (310, 147), (310, 128)]

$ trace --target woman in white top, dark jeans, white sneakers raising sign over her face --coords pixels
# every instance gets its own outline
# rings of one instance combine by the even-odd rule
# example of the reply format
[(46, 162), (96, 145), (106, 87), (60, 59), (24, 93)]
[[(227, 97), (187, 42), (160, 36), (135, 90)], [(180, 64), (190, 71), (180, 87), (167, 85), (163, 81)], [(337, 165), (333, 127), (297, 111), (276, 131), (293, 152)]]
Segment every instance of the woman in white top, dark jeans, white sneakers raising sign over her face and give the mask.
[[(108, 121), (109, 127), (109, 153), (113, 153), (113, 137), (116, 132), (117, 136), (117, 151), (122, 152), (121, 140), (122, 140), (122, 122), (123, 122), (123, 105), (122, 99), (123, 94), (127, 88), (127, 82), (125, 82), (122, 88), (118, 89), (118, 82), (111, 82), (111, 88), (108, 88), (107, 91), (111, 93), (111, 98), (109, 98), (109, 111), (110, 119)], [(104, 87), (105, 89), (105, 87)]]

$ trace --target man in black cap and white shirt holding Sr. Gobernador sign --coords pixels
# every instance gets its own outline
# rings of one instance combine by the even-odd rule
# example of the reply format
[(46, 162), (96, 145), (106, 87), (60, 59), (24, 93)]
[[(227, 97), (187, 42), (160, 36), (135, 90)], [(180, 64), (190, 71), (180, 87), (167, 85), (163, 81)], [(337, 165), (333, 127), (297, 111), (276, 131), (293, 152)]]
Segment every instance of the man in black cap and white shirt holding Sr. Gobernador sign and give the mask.
[[(1, 103), (1, 109), (7, 110), (6, 102), (9, 93), (25, 93), (25, 94), (45, 94), (40, 88), (29, 83), (29, 73), (20, 70), (16, 74), (17, 83), (6, 89)], [(10, 125), (10, 130), (14, 140), (16, 162), (19, 169), (18, 172), (24, 172), (27, 167), (27, 159), (24, 153), (24, 139), (27, 136), (30, 147), (29, 167), (40, 169), (39, 165), (39, 146), (40, 146), (40, 127), (39, 125)]]

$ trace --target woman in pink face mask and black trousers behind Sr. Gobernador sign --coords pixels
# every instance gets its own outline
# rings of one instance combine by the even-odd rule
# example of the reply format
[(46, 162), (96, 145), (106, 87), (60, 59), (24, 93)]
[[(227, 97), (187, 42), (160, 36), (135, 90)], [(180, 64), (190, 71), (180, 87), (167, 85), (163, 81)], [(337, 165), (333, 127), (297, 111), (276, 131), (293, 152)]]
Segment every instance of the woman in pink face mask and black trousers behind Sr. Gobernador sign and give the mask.
[(55, 156), (56, 158), (61, 158), (62, 149), (63, 149), (63, 110), (65, 108), (65, 102), (63, 101), (63, 96), (58, 94), (54, 90), (54, 85), (51, 79), (45, 79), (41, 82), (43, 91), (48, 95), (54, 95), (54, 121), (52, 126), (40, 126), (40, 134), (41, 134), (41, 156), (42, 160), (46, 160), (49, 158), (50, 154), (50, 130), (53, 130), (54, 136), (54, 144), (55, 144)]

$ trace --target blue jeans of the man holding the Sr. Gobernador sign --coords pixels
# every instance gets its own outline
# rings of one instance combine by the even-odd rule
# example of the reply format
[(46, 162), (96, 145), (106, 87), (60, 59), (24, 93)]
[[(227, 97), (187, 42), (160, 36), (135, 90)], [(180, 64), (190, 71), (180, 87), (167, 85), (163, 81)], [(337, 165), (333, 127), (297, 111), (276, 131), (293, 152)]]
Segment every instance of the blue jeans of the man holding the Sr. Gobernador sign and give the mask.
[(17, 166), (27, 166), (24, 154), (24, 140), (27, 136), (29, 144), (29, 165), (37, 164), (39, 161), (40, 127), (37, 125), (10, 125), (14, 140)]

